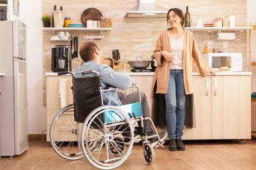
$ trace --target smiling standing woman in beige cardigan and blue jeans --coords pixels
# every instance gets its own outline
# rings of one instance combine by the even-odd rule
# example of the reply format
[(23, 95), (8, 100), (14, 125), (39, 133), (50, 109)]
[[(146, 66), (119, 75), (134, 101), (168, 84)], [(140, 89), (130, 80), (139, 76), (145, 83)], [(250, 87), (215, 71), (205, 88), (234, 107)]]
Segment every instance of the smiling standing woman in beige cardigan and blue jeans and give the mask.
[(186, 95), (193, 94), (192, 57), (202, 76), (214, 71), (198, 51), (192, 32), (183, 28), (182, 11), (170, 9), (167, 23), (171, 28), (161, 32), (154, 50), (157, 69), (153, 87), (156, 83), (156, 94), (164, 94), (169, 150), (185, 150), (182, 135)]

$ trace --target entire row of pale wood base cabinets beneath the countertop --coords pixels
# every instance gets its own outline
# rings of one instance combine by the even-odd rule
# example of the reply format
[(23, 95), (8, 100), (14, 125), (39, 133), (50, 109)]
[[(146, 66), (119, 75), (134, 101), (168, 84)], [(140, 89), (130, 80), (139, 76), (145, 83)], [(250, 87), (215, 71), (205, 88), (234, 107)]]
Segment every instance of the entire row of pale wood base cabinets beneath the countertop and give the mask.
[[(154, 73), (129, 74), (141, 92), (147, 95), (148, 105), (152, 110)], [(185, 127), (183, 139), (251, 138), (251, 74), (217, 74), (219, 75), (204, 78), (199, 74), (193, 76), (196, 127)], [(73, 103), (71, 76), (47, 76), (47, 141), (52, 118), (61, 109), (58, 94), (61, 78), (67, 79), (67, 104)], [(126, 93), (133, 91), (136, 89), (129, 89)]]

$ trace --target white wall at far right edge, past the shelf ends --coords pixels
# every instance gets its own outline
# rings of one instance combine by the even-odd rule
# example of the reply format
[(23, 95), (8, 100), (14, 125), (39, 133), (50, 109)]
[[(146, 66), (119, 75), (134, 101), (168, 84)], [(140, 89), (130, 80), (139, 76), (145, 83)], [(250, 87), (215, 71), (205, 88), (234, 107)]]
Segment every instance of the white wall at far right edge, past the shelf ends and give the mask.
[[(256, 1), (247, 0), (247, 21), (256, 24)], [(252, 31), (252, 61), (256, 61), (256, 31)], [(256, 67), (252, 67), (252, 92), (256, 92)]]

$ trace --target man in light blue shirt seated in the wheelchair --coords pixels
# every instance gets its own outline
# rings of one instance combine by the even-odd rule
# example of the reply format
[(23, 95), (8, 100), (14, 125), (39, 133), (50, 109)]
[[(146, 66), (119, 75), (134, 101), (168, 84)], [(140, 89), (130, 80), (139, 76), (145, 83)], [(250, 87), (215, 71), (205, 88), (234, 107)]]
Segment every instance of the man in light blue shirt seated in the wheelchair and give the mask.
[[(83, 59), (84, 63), (75, 71), (75, 77), (81, 77), (83, 71), (95, 70), (100, 75), (100, 86), (102, 89), (106, 89), (106, 87), (116, 87), (120, 90), (125, 90), (131, 87), (132, 81), (131, 77), (126, 73), (117, 73), (111, 67), (106, 64), (102, 64), (104, 60), (104, 55), (102, 50), (100, 50), (99, 46), (93, 42), (86, 42), (80, 48), (79, 52), (81, 59)], [(93, 74), (87, 74), (86, 76), (94, 76)], [(125, 95), (122, 91), (106, 91), (102, 93), (103, 103), (104, 105), (113, 105), (120, 106), (124, 104), (131, 104), (139, 102), (139, 94), (138, 92), (132, 92), (131, 94)], [(147, 96), (141, 92), (141, 108), (143, 113), (143, 118), (150, 117), (150, 111), (147, 102)], [(143, 122), (145, 132), (147, 136), (154, 135), (154, 131), (152, 129), (152, 125), (149, 120), (145, 120)], [(138, 134), (138, 132), (135, 134)], [(129, 136), (129, 134), (122, 134), (123, 136)], [(135, 135), (136, 136), (136, 135)], [(167, 137), (166, 132), (160, 132), (159, 138), (164, 140)], [(157, 138), (149, 139), (150, 143), (154, 145), (158, 143)]]

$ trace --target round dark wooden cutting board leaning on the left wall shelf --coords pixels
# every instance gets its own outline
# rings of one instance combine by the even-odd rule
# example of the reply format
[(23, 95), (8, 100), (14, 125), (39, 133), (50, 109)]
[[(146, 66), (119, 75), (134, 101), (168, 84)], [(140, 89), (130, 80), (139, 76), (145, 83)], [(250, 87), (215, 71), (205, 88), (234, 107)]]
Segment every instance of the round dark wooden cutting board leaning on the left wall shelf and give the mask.
[(87, 20), (100, 20), (102, 13), (96, 8), (87, 8), (81, 15), (81, 22), (86, 27)]

